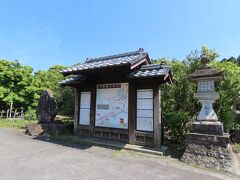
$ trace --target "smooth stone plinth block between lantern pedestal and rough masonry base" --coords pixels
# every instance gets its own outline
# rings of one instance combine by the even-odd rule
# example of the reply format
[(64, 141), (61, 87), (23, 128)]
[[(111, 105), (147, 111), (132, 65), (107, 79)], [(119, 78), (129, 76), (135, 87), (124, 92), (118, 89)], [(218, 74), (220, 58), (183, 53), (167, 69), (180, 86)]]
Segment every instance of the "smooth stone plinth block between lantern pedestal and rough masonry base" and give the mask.
[(191, 132), (223, 136), (223, 125), (219, 121), (195, 121)]

